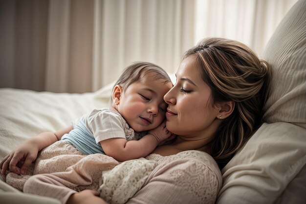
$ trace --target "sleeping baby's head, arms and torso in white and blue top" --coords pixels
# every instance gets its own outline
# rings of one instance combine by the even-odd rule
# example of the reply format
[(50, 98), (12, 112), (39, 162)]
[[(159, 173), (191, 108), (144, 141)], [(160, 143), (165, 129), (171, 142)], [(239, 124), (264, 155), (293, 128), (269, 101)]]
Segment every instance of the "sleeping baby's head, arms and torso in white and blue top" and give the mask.
[(172, 87), (162, 68), (145, 62), (132, 64), (115, 83), (109, 109), (93, 110), (74, 126), (26, 140), (1, 161), (1, 174), (7, 169), (24, 174), (38, 152), (57, 140), (84, 154), (101, 153), (117, 161), (146, 157), (174, 137), (166, 129), (163, 99)]

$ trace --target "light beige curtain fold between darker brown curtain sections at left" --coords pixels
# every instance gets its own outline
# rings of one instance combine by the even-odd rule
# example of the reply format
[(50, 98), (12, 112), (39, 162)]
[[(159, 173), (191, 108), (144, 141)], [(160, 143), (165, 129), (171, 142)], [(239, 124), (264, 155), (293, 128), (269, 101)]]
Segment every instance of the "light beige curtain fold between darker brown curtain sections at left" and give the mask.
[(45, 65), (45, 90), (68, 91), (70, 1), (52, 0), (48, 5), (49, 18)]

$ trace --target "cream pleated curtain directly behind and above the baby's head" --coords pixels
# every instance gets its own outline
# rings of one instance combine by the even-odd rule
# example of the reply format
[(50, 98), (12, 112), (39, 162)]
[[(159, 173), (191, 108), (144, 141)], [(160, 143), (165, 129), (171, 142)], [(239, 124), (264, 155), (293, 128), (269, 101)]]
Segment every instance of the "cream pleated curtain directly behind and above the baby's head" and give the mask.
[[(95, 0), (93, 89), (134, 61), (169, 72), (193, 45), (193, 0)], [(102, 69), (101, 69), (102, 68)]]

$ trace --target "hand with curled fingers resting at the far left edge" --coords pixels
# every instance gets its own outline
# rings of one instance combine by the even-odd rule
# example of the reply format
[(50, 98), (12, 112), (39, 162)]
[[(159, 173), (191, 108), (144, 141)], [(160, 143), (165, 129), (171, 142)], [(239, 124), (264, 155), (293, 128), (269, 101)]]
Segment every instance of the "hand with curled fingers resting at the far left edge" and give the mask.
[(30, 164), (36, 159), (39, 147), (30, 142), (24, 142), (14, 149), (0, 162), (1, 175), (6, 170), (16, 174), (25, 174)]

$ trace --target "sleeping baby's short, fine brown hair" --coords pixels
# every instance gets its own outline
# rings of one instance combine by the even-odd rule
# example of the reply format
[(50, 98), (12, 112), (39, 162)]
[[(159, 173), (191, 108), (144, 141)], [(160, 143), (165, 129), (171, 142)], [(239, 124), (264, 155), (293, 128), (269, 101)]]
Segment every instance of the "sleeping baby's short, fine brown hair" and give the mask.
[(153, 73), (154, 80), (163, 79), (165, 84), (171, 82), (169, 75), (163, 68), (154, 65), (153, 63), (135, 62), (123, 70), (114, 87), (120, 85), (123, 88), (123, 91), (125, 91), (132, 83), (137, 82), (141, 77), (145, 77), (148, 73)]

